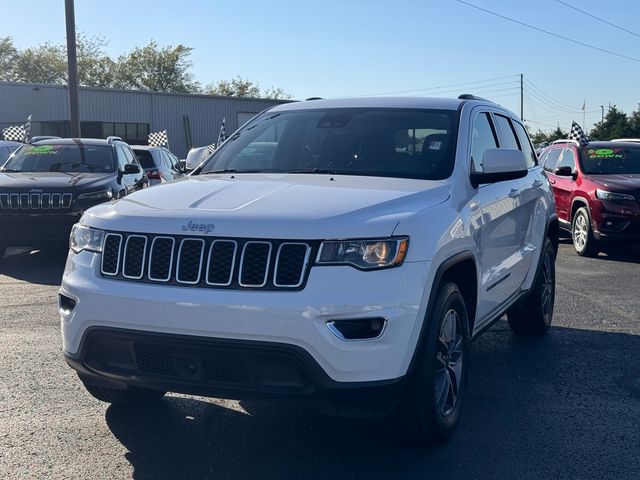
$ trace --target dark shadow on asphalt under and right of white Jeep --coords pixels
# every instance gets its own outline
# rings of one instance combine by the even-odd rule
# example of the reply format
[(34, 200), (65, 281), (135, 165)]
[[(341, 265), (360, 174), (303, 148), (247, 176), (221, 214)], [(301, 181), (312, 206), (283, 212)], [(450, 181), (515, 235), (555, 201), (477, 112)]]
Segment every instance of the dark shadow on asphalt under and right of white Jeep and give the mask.
[(382, 421), (186, 396), (110, 406), (106, 421), (139, 479), (640, 478), (638, 351), (636, 335), (520, 338), (500, 321), (473, 344), (456, 435), (431, 448), (397, 443)]

